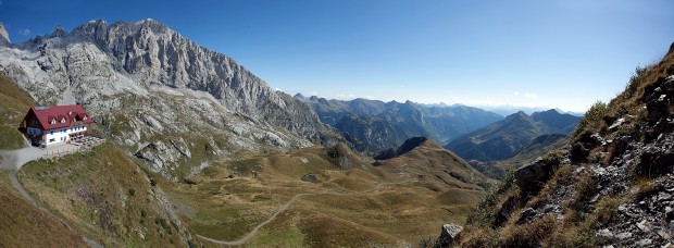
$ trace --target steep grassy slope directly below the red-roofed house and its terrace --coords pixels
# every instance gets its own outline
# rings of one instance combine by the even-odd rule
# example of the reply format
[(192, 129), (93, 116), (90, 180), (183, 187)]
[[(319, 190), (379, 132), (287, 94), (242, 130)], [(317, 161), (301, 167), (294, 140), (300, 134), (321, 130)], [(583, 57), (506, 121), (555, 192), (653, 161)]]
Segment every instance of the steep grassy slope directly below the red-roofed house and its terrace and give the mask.
[(29, 162), (17, 176), (36, 199), (104, 246), (187, 245), (151, 175), (113, 144)]

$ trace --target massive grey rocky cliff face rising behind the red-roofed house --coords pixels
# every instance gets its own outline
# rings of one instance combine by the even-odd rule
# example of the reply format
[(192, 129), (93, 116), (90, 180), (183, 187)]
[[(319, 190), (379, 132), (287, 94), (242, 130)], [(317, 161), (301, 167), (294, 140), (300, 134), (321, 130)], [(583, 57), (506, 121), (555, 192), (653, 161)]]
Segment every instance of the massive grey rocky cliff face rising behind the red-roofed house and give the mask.
[[(57, 27), (0, 46), (0, 72), (38, 103), (84, 104), (129, 152), (167, 176), (179, 161), (200, 163), (205, 154), (340, 139), (305, 103), (152, 20)], [(203, 161), (168, 144), (184, 144)]]

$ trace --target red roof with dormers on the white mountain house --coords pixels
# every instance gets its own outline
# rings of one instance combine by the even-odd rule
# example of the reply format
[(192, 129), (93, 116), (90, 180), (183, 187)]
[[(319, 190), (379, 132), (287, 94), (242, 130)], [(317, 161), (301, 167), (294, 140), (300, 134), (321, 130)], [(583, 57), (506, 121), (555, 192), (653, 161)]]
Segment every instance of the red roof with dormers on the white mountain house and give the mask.
[(82, 106), (33, 107), (30, 111), (35, 113), (43, 131), (91, 124), (91, 116)]

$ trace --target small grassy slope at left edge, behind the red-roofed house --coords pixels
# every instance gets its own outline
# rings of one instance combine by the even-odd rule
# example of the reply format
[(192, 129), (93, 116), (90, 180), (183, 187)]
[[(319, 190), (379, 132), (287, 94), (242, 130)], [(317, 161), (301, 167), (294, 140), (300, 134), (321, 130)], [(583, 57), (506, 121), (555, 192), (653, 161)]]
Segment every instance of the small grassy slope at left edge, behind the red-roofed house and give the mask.
[(35, 101), (23, 89), (0, 74), (0, 149), (17, 149), (26, 144), (17, 131)]

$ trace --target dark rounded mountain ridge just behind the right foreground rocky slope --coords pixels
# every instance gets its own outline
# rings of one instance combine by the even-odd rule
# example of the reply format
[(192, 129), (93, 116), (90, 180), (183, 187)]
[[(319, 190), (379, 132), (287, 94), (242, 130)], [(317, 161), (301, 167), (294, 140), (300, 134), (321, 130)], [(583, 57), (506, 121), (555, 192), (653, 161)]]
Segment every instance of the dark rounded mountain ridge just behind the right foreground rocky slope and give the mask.
[(520, 149), (541, 135), (569, 135), (578, 121), (579, 117), (560, 114), (556, 110), (536, 112), (532, 116), (517, 112), (500, 122), (458, 137), (445, 148), (469, 161), (504, 160), (515, 156)]

